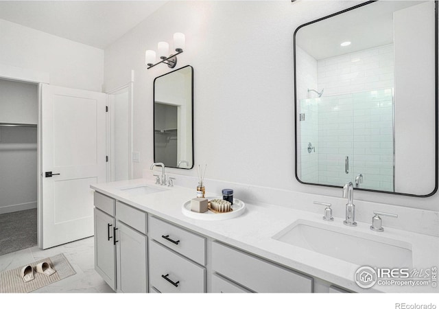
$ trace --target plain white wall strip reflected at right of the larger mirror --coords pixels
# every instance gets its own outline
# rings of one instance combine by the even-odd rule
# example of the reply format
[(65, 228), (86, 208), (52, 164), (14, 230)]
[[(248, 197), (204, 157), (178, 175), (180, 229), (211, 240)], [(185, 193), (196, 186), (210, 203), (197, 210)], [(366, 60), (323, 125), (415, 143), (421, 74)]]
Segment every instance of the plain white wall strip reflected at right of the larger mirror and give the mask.
[(434, 189), (434, 131), (425, 132), (418, 126), (436, 125), (430, 104), (435, 100), (431, 91), (435, 88), (435, 71), (429, 61), (434, 59), (434, 19), (425, 18), (434, 14), (433, 8), (434, 3), (429, 1), (394, 13), (397, 191), (428, 194)]

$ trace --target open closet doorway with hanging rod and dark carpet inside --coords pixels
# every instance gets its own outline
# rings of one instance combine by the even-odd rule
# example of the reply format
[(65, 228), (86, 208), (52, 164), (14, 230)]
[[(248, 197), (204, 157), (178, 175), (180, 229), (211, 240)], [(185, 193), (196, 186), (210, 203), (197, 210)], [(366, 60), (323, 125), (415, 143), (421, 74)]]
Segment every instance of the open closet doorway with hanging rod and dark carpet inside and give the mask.
[(38, 84), (0, 79), (0, 255), (37, 244)]

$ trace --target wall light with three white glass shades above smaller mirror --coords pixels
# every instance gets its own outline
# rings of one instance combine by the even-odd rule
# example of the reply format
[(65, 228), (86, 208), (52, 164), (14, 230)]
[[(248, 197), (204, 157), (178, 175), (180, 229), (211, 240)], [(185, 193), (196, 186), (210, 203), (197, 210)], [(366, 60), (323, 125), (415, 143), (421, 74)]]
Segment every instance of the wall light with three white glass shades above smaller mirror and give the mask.
[(172, 69), (177, 65), (177, 55), (183, 52), (183, 48), (185, 48), (185, 34), (181, 32), (174, 33), (175, 54), (168, 56), (169, 44), (167, 42), (158, 42), (157, 54), (161, 61), (154, 64), (154, 62), (156, 62), (156, 52), (154, 52), (154, 50), (147, 50), (145, 52), (145, 64), (147, 65), (147, 69), (151, 69), (160, 63), (165, 63), (165, 65)]

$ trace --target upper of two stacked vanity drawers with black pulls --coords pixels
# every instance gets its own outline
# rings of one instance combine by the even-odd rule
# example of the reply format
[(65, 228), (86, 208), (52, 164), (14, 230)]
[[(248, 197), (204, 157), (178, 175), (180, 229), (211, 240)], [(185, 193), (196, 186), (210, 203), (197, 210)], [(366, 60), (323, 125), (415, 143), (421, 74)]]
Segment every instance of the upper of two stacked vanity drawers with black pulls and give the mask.
[(150, 216), (149, 236), (198, 264), (206, 264), (206, 238)]

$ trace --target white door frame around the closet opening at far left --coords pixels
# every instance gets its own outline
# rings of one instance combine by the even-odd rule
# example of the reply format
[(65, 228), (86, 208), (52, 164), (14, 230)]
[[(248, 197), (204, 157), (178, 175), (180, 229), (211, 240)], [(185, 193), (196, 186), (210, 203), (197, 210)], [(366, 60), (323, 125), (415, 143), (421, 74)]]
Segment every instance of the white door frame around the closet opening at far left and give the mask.
[(38, 122), (36, 137), (36, 157), (37, 157), (37, 190), (36, 190), (36, 237), (38, 248), (43, 244), (43, 216), (41, 208), (41, 86), (50, 84), (50, 75), (47, 72), (23, 69), (10, 65), (0, 65), (0, 78), (12, 80), (14, 82), (29, 82), (38, 85)]

